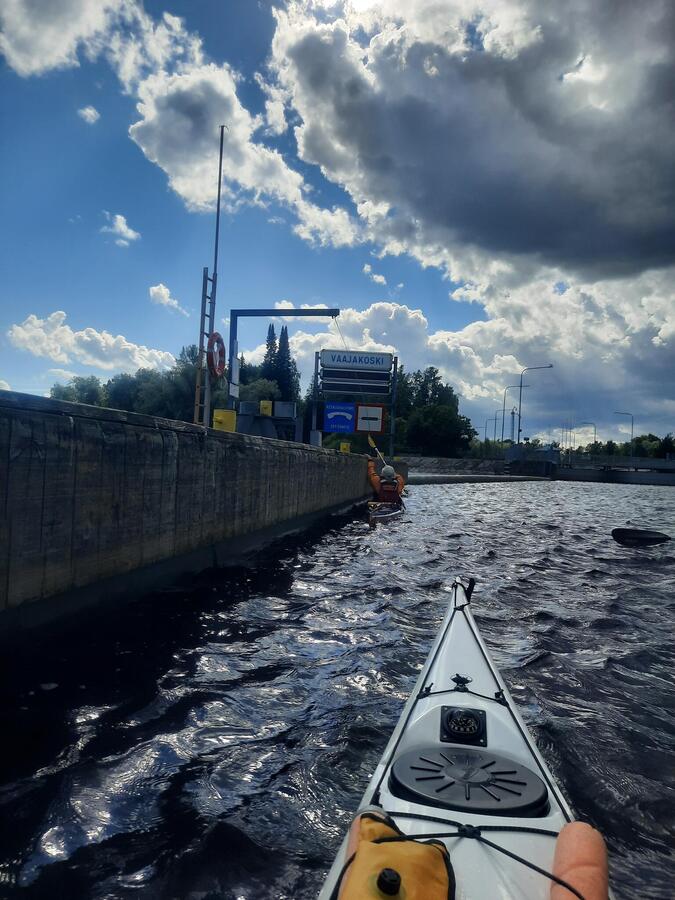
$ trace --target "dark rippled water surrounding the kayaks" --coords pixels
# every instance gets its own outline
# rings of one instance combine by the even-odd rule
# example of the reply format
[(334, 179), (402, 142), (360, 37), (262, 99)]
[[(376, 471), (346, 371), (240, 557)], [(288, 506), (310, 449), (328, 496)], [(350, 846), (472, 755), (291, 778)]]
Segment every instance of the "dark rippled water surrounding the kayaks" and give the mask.
[(617, 896), (672, 897), (675, 550), (609, 532), (675, 531), (675, 490), (431, 485), (408, 508), (15, 648), (0, 896), (315, 896), (464, 574)]

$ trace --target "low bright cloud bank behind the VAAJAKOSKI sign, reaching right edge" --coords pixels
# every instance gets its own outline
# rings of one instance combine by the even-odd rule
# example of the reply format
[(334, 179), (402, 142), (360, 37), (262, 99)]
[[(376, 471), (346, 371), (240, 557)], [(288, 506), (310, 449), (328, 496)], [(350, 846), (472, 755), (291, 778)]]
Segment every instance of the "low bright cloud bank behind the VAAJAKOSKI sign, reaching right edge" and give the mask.
[[(456, 330), (432, 329), (421, 309), (400, 303), (347, 307), (340, 332), (332, 325), (310, 332), (295, 320), (290, 344), (305, 384), (314, 353), (342, 347), (342, 336), (350, 349), (397, 353), (407, 371), (436, 366), (481, 428), (521, 369), (552, 362), (552, 370), (527, 379), (526, 423), (559, 428), (590, 420), (606, 440), (621, 424), (611, 412), (623, 404), (640, 410), (640, 430), (664, 434), (673, 430), (675, 416), (674, 278), (670, 269), (623, 282), (570, 281), (561, 295), (551, 272), (547, 279), (493, 291), (489, 318)], [(246, 358), (259, 361), (264, 349), (245, 351)]]

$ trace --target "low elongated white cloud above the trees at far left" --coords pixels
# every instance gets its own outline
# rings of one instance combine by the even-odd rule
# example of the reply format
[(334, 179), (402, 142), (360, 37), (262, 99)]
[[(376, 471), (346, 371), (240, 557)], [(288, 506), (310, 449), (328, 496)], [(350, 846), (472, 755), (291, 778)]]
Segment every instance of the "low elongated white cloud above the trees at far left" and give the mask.
[(134, 344), (123, 335), (83, 328), (76, 331), (66, 324), (66, 313), (57, 310), (44, 319), (31, 314), (7, 332), (12, 345), (33, 356), (56, 363), (82, 365), (106, 372), (135, 372), (137, 369), (168, 369), (175, 358), (165, 350)]

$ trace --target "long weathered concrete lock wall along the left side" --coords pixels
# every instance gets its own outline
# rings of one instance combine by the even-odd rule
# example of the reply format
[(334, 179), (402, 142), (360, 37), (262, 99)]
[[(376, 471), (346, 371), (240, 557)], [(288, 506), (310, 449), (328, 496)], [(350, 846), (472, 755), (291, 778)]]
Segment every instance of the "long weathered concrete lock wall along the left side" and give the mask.
[(153, 589), (368, 494), (362, 456), (0, 391), (0, 629), (28, 606), (44, 620)]

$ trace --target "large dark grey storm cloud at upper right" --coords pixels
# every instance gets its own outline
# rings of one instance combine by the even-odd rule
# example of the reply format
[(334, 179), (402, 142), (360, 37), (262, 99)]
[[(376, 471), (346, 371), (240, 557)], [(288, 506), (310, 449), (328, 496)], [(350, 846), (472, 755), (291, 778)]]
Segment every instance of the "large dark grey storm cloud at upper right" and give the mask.
[(459, 53), (413, 23), (364, 63), (340, 24), (298, 29), (282, 71), (301, 154), (389, 204), (384, 236), (605, 276), (669, 264), (675, 4), (523, 5), (538, 32), (511, 55), (475, 37)]

